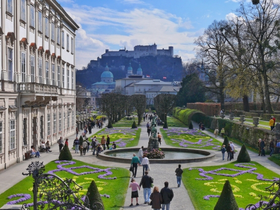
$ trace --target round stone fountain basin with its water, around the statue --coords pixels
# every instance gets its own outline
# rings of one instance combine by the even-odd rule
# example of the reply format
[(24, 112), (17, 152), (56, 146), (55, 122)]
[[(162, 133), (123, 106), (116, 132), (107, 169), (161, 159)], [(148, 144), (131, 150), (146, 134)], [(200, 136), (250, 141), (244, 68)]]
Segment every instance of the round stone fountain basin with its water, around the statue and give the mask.
[[(146, 150), (144, 148), (143, 150)], [(202, 149), (189, 148), (161, 148), (164, 152), (164, 159), (149, 159), (150, 163), (192, 163), (208, 161), (214, 158), (215, 153)], [(105, 150), (99, 153), (99, 158), (106, 161), (131, 163), (133, 153), (138, 154), (139, 148), (117, 148), (114, 150)]]

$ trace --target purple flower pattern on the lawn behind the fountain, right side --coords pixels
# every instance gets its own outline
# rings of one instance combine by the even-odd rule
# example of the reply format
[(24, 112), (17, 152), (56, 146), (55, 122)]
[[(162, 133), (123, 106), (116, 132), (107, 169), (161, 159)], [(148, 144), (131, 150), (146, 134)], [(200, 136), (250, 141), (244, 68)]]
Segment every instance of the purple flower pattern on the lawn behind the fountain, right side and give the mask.
[(170, 139), (173, 141), (173, 143), (179, 143), (179, 146), (182, 147), (196, 147), (196, 148), (203, 148), (207, 146), (213, 146), (212, 149), (220, 149), (220, 143), (219, 142), (212, 142), (213, 139), (209, 137), (209, 139), (198, 139), (196, 142), (188, 141), (185, 139), (175, 139), (172, 138), (172, 136), (179, 136), (181, 134), (186, 134), (186, 135), (192, 135), (192, 136), (197, 136), (198, 138), (201, 136), (207, 136), (204, 133), (201, 133), (200, 131), (196, 129), (178, 129), (178, 128), (172, 128), (172, 129), (163, 129), (167, 136), (170, 136)]

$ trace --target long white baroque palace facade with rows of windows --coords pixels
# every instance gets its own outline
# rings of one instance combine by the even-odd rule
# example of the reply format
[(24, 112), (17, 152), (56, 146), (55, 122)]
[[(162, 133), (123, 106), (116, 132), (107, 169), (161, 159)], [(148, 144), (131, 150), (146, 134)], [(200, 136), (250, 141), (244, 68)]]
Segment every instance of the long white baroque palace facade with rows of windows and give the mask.
[(0, 5), (0, 170), (75, 133), (75, 31), (55, 0)]

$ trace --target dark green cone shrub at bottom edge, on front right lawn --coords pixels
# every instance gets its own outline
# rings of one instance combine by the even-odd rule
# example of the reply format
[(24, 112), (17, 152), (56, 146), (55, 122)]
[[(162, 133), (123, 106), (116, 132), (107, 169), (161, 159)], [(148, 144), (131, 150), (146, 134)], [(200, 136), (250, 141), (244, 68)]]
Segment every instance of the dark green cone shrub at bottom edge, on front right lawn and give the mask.
[(220, 197), (214, 207), (214, 210), (222, 210), (222, 209), (227, 209), (227, 210), (239, 209), (229, 180), (227, 180), (225, 185), (223, 185), (222, 191), (220, 193)]

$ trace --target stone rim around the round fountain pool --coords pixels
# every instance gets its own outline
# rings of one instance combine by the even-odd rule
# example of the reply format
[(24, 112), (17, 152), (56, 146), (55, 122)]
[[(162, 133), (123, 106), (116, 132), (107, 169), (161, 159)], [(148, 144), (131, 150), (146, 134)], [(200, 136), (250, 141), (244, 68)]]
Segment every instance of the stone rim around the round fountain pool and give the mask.
[[(144, 148), (144, 150), (147, 148)], [(170, 147), (162, 147), (160, 148), (163, 151), (169, 150), (169, 151), (186, 151), (186, 152), (192, 152), (192, 153), (198, 153), (198, 154), (204, 154), (206, 155), (203, 158), (192, 158), (192, 159), (149, 159), (149, 163), (151, 164), (184, 164), (184, 163), (193, 163), (193, 162), (203, 162), (203, 161), (209, 161), (215, 158), (215, 153), (208, 150), (203, 149), (189, 149), (189, 148), (170, 148)], [(114, 149), (110, 151), (104, 151), (103, 153), (99, 153), (98, 157), (105, 161), (112, 161), (112, 162), (120, 162), (120, 163), (131, 163), (131, 159), (127, 158), (117, 158), (113, 156), (106, 155), (106, 153), (115, 152), (115, 151), (135, 151), (135, 153), (138, 153), (139, 148), (121, 148), (121, 149)]]

